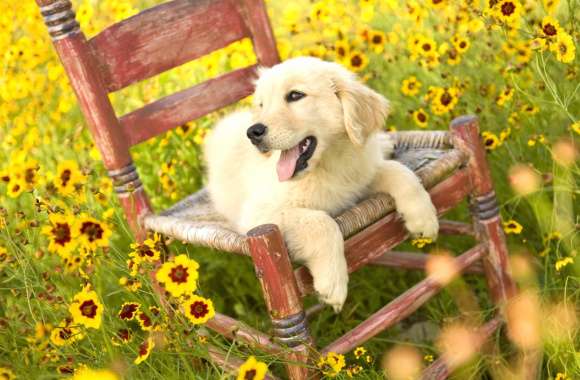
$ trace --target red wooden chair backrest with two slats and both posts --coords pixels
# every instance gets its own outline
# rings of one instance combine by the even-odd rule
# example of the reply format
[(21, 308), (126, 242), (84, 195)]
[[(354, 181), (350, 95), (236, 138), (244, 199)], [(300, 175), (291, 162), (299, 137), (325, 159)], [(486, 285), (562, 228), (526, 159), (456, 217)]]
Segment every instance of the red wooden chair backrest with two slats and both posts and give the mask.
[[(252, 39), (258, 64), (279, 62), (263, 0), (169, 1), (114, 24), (88, 41), (70, 0), (36, 2), (117, 193), (121, 200), (129, 195), (139, 198), (142, 210), (133, 214), (150, 212), (150, 208), (129, 148), (250, 95), (255, 66), (231, 71), (121, 117), (115, 114), (108, 93), (246, 37)], [(127, 207), (130, 222), (140, 216), (133, 218)]]

